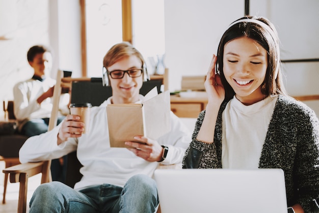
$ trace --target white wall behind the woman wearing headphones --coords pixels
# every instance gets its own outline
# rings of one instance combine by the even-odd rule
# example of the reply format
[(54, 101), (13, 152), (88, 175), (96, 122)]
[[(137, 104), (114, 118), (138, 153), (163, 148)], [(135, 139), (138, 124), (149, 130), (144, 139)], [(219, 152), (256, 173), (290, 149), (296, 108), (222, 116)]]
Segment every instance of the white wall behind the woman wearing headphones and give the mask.
[[(227, 26), (244, 15), (237, 0), (165, 0), (165, 64), (169, 90), (181, 88), (182, 75), (205, 75)], [(250, 0), (250, 14), (276, 26), (282, 60), (319, 58), (319, 1)], [(319, 94), (319, 62), (285, 63), (284, 84), (290, 95)], [(319, 115), (319, 101), (306, 101)]]

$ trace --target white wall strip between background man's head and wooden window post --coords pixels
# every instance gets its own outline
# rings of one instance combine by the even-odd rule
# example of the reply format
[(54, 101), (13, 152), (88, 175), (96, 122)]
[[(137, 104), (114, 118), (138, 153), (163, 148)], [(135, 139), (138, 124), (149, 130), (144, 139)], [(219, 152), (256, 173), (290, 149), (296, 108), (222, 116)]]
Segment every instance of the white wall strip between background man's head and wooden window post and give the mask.
[(81, 9), (78, 0), (49, 1), (50, 45), (55, 50), (52, 77), (56, 71), (70, 70), (72, 77), (82, 75)]

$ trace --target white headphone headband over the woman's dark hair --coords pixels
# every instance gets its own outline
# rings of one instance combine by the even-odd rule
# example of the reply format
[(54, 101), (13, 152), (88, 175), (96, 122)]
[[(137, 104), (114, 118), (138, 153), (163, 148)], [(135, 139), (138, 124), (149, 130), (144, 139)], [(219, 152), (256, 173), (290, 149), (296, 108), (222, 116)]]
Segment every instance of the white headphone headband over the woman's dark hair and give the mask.
[(278, 72), (279, 72), (278, 60), (279, 60), (279, 56), (280, 56), (280, 50), (279, 50), (279, 45), (278, 45), (278, 42), (277, 42), (277, 36), (276, 36), (275, 32), (273, 31), (273, 29), (271, 29), (271, 27), (268, 24), (266, 24), (266, 23), (264, 23), (262, 21), (259, 21), (257, 19), (251, 19), (251, 18), (240, 19), (240, 20), (234, 21), (228, 26), (228, 29), (231, 28), (231, 26), (235, 25), (236, 23), (241, 23), (241, 22), (256, 23), (256, 24), (262, 26), (262, 28), (267, 30), (267, 32), (271, 35), (272, 39), (275, 42), (276, 50), (277, 50), (277, 59), (276, 59), (277, 64), (276, 64), (276, 71), (275, 71), (275, 79), (276, 79), (277, 75), (278, 75)]

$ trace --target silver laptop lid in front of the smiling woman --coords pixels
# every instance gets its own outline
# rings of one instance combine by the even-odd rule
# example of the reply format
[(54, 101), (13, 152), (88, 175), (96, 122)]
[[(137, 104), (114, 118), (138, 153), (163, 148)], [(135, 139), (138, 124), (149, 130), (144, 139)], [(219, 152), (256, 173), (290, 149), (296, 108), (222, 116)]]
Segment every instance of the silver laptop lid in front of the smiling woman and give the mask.
[(281, 169), (157, 169), (162, 213), (286, 213)]

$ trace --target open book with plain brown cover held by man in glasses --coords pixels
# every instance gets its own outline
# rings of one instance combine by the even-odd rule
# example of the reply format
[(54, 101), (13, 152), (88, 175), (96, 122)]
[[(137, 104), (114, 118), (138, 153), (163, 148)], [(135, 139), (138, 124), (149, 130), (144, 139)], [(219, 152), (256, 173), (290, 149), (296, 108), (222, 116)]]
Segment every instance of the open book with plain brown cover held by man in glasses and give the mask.
[(145, 95), (142, 103), (109, 104), (107, 116), (111, 147), (126, 147), (134, 136), (156, 140), (171, 130), (170, 93), (157, 94), (156, 88)]

